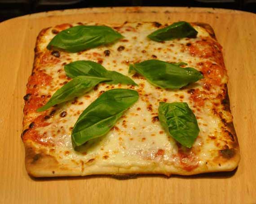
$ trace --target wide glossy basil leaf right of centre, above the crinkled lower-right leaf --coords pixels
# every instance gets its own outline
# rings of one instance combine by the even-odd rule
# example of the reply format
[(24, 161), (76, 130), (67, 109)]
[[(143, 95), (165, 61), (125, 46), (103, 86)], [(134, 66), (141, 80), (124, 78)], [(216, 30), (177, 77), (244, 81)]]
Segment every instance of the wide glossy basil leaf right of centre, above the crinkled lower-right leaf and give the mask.
[(194, 68), (181, 68), (156, 59), (130, 64), (129, 72), (132, 71), (138, 72), (151, 84), (164, 89), (180, 89), (189, 83), (203, 79), (203, 75)]

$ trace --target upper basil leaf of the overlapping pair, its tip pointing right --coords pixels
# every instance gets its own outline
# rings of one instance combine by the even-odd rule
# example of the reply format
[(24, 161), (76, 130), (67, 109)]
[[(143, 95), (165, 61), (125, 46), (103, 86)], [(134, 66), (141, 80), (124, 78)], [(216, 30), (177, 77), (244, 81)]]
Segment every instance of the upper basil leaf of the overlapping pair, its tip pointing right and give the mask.
[(130, 77), (115, 71), (108, 71), (101, 64), (93, 61), (79, 60), (64, 66), (66, 75), (74, 78), (76, 76), (98, 76), (110, 79), (109, 84), (137, 85)]

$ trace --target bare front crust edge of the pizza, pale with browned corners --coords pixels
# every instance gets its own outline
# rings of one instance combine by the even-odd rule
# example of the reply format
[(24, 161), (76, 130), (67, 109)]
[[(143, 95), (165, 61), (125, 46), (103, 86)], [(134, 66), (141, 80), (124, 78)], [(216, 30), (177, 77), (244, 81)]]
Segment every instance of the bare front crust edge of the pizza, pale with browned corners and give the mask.
[[(86, 176), (86, 175), (123, 175), (126, 177), (131, 174), (164, 174), (171, 176), (172, 174), (179, 175), (194, 175), (201, 173), (220, 172), (220, 171), (233, 171), (240, 160), (239, 150), (234, 150), (234, 155), (231, 158), (218, 157), (216, 163), (211, 165), (201, 166), (193, 171), (185, 171), (177, 169), (174, 166), (145, 166), (140, 168), (133, 166), (131, 168), (120, 167), (101, 167), (93, 166), (93, 162), (80, 163), (80, 165), (71, 166), (65, 165), (57, 161), (57, 159), (46, 153), (44, 149), (37, 149), (32, 142), (25, 144), (26, 157), (25, 164), (26, 170), (29, 175), (33, 177), (56, 177), (56, 176)], [(218, 165), (217, 163), (221, 164)], [(172, 172), (172, 173), (170, 173)]]

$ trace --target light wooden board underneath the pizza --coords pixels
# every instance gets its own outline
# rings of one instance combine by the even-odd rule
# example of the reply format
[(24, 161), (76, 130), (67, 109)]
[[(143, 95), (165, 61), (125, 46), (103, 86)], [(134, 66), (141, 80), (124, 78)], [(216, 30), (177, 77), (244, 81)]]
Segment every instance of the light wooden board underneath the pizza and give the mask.
[[(182, 177), (34, 179), (24, 166), (23, 96), (41, 29), (64, 22), (200, 21), (224, 47), (241, 161), (231, 173)], [(256, 15), (225, 9), (97, 8), (53, 11), (0, 24), (0, 203), (256, 203)]]

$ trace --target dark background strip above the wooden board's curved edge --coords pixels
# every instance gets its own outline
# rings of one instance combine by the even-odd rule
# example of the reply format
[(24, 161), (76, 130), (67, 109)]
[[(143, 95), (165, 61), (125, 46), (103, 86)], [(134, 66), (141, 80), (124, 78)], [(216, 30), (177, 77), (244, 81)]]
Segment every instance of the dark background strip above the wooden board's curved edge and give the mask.
[(111, 6), (214, 7), (256, 13), (256, 0), (0, 0), (0, 21), (42, 11)]

